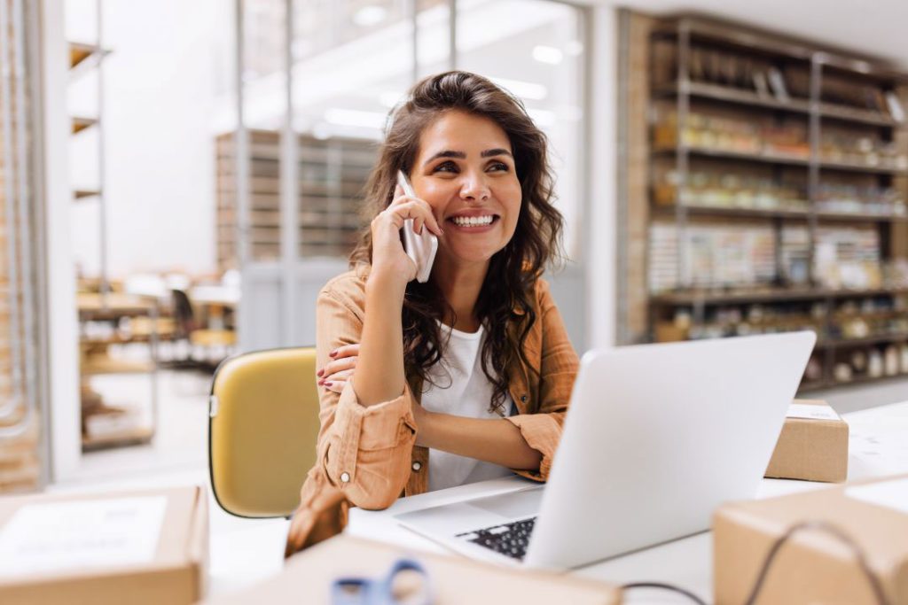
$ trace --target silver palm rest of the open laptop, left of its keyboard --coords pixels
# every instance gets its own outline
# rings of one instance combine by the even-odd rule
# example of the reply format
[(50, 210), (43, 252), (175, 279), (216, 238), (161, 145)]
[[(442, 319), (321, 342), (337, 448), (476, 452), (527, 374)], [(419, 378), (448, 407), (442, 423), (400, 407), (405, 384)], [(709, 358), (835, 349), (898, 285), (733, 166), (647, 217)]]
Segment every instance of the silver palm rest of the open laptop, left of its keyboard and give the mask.
[(542, 487), (534, 487), (462, 503), (443, 504), (421, 511), (403, 512), (395, 515), (395, 519), (417, 532), (453, 536), (535, 516), (542, 502), (542, 493)]

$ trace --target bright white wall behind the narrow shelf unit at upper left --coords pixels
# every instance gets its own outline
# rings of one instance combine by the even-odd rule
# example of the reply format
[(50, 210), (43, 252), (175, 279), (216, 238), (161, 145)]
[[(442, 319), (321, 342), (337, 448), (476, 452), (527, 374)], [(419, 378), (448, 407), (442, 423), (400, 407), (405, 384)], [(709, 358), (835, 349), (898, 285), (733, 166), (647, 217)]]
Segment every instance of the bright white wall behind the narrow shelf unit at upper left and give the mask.
[[(94, 1), (66, 0), (66, 36), (94, 42)], [(104, 138), (108, 274), (183, 268), (215, 270), (214, 151), (210, 132), (215, 40), (232, 3), (218, 0), (105, 0)], [(70, 111), (94, 115), (96, 81), (70, 86)], [(71, 143), (74, 185), (96, 184), (96, 133)], [(72, 212), (76, 261), (100, 263), (98, 204)]]

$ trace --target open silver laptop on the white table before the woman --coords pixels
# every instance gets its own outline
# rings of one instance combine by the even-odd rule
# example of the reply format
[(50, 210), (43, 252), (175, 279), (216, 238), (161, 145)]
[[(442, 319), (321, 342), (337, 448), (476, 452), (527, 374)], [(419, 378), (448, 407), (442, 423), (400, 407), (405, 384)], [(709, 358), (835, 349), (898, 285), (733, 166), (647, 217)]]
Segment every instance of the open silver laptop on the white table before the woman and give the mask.
[(814, 332), (583, 356), (548, 485), (396, 515), (473, 558), (568, 569), (709, 529), (753, 498)]

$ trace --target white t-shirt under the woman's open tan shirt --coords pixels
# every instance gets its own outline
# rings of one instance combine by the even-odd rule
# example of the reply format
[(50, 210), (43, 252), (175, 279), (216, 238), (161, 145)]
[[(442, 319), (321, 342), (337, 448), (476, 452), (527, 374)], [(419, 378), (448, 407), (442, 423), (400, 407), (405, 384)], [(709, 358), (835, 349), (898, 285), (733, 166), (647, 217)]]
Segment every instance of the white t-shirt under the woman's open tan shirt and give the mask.
[[(469, 333), (444, 324), (439, 326), (442, 342), (448, 332), (450, 339), (439, 363), (429, 368), (428, 377), (435, 385), (426, 383), (429, 390), (422, 395), (422, 406), (440, 414), (500, 418), (497, 412), (489, 412), (493, 385), (482, 371), (485, 330), (479, 327), (478, 332)], [(514, 402), (510, 395), (505, 395), (502, 409), (513, 413)], [(510, 474), (508, 468), (498, 464), (429, 449), (429, 492)]]

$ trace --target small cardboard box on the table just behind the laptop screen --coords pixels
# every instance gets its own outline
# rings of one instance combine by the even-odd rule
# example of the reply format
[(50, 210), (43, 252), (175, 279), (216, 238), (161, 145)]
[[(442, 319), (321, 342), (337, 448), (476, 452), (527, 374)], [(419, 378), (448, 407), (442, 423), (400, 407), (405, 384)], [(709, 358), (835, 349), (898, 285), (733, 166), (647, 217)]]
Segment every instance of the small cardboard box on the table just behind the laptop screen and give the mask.
[(848, 477), (848, 424), (824, 401), (795, 399), (765, 476), (843, 482)]

